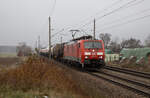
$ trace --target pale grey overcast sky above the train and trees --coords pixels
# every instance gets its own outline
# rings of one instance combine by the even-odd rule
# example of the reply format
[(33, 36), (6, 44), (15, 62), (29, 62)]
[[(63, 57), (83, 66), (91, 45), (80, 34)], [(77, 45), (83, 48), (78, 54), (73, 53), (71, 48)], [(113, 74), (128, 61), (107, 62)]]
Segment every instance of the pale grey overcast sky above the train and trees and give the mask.
[[(101, 18), (132, 1), (135, 2)], [(41, 44), (46, 46), (49, 15), (52, 17), (52, 34), (63, 28), (63, 35), (66, 34), (54, 36), (53, 44), (60, 42), (61, 36), (63, 41), (70, 40), (70, 29), (84, 31), (76, 37), (85, 32), (92, 34), (93, 23), (82, 26), (94, 18), (97, 38), (100, 33), (110, 33), (113, 39), (118, 37), (118, 41), (130, 37), (144, 40), (150, 34), (150, 16), (147, 17), (150, 0), (0, 0), (0, 45), (26, 42), (35, 46), (41, 36)]]

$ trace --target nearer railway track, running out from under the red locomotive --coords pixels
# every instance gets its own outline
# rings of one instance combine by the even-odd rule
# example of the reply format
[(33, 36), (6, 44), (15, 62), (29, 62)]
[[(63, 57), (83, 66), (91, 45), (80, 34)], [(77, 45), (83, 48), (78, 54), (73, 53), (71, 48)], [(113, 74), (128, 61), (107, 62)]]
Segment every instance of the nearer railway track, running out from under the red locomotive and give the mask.
[(125, 78), (111, 75), (111, 74), (101, 72), (101, 71), (87, 72), (87, 73), (94, 77), (103, 79), (103, 80), (113, 83), (115, 85), (129, 89), (137, 94), (140, 94), (140, 95), (150, 98), (150, 85), (146, 85), (146, 84), (143, 84), (143, 83), (140, 83), (137, 81), (125, 79)]

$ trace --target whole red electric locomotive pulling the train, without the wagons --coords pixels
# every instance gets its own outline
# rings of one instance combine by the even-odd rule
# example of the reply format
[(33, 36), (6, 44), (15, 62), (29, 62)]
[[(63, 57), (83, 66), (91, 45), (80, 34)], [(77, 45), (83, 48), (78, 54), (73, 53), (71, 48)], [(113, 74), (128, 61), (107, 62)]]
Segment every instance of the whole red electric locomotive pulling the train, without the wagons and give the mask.
[(101, 68), (105, 65), (102, 40), (75, 40), (63, 45), (63, 59), (78, 62), (82, 68)]

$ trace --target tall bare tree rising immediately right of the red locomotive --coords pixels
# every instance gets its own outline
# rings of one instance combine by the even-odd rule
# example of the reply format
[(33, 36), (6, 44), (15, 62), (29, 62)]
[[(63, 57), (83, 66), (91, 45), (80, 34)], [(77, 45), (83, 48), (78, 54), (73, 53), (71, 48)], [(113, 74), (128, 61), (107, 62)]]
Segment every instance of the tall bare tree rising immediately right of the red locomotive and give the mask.
[(105, 48), (108, 48), (108, 45), (111, 41), (111, 34), (108, 34), (108, 33), (101, 33), (99, 35), (100, 39), (103, 40), (104, 42), (104, 45), (105, 45)]

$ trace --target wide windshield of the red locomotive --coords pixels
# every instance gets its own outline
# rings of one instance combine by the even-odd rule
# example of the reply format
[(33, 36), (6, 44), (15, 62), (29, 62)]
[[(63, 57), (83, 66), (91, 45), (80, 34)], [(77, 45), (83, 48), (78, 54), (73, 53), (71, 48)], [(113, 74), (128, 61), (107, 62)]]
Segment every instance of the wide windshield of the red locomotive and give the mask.
[(102, 44), (101, 42), (96, 42), (96, 41), (88, 41), (88, 42), (84, 42), (84, 48), (86, 49), (101, 49), (102, 48)]

